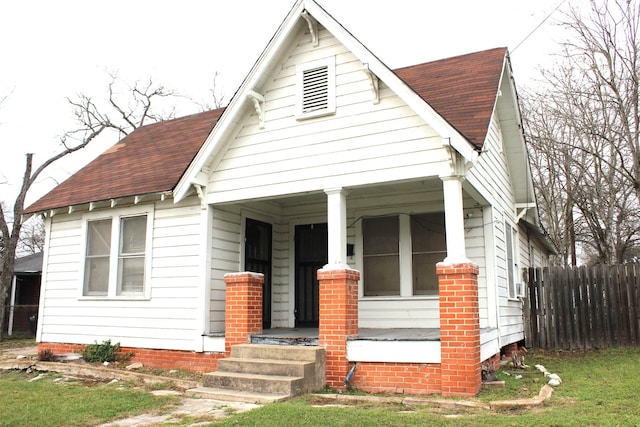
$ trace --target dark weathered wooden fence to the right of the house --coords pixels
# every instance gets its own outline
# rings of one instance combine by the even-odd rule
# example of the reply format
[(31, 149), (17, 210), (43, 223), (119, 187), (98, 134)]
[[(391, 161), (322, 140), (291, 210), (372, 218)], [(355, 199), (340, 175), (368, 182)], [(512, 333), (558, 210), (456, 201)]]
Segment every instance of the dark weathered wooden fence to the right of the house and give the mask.
[(528, 346), (640, 346), (640, 265), (530, 268), (526, 276)]

